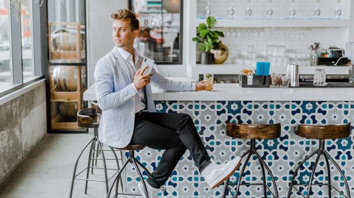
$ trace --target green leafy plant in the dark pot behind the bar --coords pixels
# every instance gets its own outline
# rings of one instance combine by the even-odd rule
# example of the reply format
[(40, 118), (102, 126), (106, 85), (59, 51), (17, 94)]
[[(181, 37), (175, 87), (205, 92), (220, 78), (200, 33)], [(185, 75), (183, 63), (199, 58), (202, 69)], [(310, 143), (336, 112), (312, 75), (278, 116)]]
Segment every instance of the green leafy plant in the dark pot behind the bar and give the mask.
[(224, 33), (212, 31), (215, 23), (216, 19), (209, 16), (207, 18), (207, 24), (199, 24), (197, 36), (192, 38), (194, 42), (199, 43), (199, 48), (202, 52), (208, 53), (212, 49), (219, 47), (219, 36), (224, 37)]

